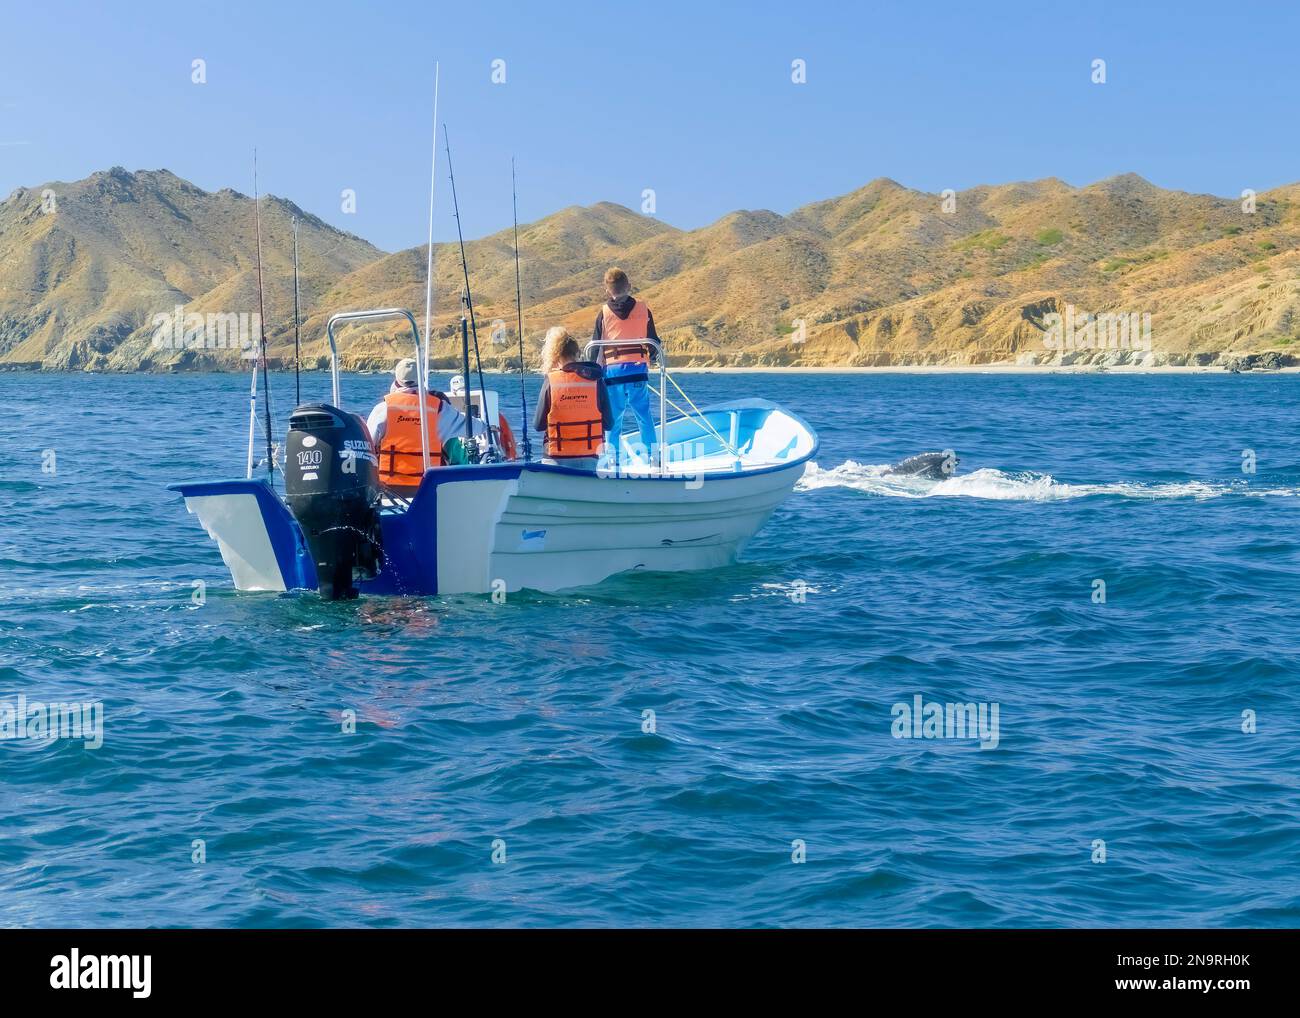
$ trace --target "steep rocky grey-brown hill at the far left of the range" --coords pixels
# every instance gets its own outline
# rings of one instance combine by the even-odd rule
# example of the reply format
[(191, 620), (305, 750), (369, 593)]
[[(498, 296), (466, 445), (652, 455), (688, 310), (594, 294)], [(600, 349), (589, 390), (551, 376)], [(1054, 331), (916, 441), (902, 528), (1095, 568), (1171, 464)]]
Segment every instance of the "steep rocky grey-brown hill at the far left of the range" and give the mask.
[[(380, 257), (290, 202), (261, 205), (266, 316), (292, 308), (292, 220), (303, 300)], [(157, 350), (153, 319), (257, 309), (252, 200), (166, 170), (113, 168), (20, 189), (0, 204), (0, 363), (139, 369), (238, 365), (238, 351)], [(270, 322), (268, 322), (269, 325)]]

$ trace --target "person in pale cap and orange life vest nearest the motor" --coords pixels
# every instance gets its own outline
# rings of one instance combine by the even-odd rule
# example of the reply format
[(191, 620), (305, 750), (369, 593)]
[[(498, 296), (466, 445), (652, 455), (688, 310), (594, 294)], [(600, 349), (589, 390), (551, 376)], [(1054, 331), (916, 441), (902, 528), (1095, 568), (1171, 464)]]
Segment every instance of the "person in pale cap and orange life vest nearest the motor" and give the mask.
[[(387, 488), (420, 486), (424, 477), (424, 452), (420, 443), (419, 365), (403, 358), (393, 369), (393, 386), (374, 404), (367, 424), (380, 456), (380, 481)], [(443, 467), (468, 463), (464, 442), (465, 415), (442, 393), (425, 393), (425, 420), (429, 429), (429, 465)], [(474, 434), (484, 433), (484, 424), (474, 420)]]

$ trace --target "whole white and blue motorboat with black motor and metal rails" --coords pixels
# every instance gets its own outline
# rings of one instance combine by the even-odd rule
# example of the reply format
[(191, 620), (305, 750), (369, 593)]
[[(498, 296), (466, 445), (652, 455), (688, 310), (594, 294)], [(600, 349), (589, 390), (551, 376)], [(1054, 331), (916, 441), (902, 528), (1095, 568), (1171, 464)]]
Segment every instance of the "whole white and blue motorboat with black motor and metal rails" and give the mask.
[[(334, 315), (326, 325), (330, 402), (290, 415), (283, 490), (273, 471), (252, 477), (251, 451), (243, 478), (170, 485), (217, 542), (235, 589), (316, 590), (329, 599), (558, 592), (616, 573), (719, 568), (736, 562), (818, 450), (805, 421), (764, 399), (696, 407), (686, 397), (689, 408), (677, 407), (667, 397), (664, 352), (645, 341), (659, 369), (651, 455), (624, 437), (618, 455), (592, 472), (489, 449), (484, 462), (426, 465), (412, 497), (394, 497), (378, 485), (364, 420), (343, 410), (335, 339), (344, 324), (394, 319), (408, 322), (424, 365), (422, 407), (428, 348), (421, 356), (411, 312)], [(465, 380), (468, 387), (468, 371)], [(480, 389), (464, 394), (463, 408), (495, 420), (495, 394)], [(672, 419), (670, 404), (679, 411)], [(424, 456), (428, 464), (428, 446)]]

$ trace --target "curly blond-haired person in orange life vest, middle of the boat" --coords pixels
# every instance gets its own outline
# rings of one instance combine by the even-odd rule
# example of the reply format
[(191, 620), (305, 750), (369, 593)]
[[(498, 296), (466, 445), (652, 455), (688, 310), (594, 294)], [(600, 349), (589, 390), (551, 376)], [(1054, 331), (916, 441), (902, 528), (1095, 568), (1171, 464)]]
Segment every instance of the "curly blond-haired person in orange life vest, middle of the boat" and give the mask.
[(563, 325), (546, 333), (533, 428), (546, 433), (542, 463), (594, 471), (614, 412), (603, 369), (581, 358), (577, 341)]

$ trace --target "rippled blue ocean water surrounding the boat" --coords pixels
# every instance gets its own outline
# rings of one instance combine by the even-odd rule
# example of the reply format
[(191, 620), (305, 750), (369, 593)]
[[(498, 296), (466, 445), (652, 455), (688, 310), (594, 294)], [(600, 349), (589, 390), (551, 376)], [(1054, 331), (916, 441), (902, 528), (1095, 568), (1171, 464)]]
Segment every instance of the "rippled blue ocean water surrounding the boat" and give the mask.
[(0, 923), (1300, 922), (1300, 377), (681, 381), (820, 433), (737, 566), (321, 603), (165, 490), (244, 378), (0, 374), (0, 703), (104, 711), (0, 744)]

